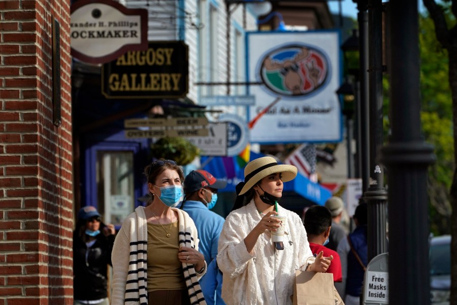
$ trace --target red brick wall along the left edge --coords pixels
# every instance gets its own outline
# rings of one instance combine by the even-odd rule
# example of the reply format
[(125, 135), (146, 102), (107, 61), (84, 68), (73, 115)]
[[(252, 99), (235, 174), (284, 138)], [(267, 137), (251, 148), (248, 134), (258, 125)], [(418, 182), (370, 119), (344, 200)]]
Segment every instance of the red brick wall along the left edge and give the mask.
[[(53, 124), (52, 20), (61, 125)], [(0, 305), (72, 304), (69, 0), (0, 0)]]

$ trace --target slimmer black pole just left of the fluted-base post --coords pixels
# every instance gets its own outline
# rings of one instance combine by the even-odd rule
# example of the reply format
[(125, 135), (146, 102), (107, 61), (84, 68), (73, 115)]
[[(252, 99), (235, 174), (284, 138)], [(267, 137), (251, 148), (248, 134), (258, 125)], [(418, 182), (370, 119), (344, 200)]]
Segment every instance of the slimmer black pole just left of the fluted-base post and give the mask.
[(357, 1), (357, 20), (359, 33), (359, 67), (360, 67), (360, 135), (358, 139), (361, 142), (360, 160), (361, 160), (361, 178), (363, 191), (368, 190), (370, 182), (369, 175), (369, 108), (368, 108), (368, 15), (367, 1)]

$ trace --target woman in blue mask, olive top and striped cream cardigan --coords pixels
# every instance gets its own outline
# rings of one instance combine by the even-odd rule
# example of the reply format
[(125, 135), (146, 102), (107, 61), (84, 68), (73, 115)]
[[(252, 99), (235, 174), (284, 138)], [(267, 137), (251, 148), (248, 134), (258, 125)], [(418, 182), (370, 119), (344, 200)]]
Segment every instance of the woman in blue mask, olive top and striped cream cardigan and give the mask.
[(199, 279), (207, 263), (197, 228), (174, 207), (182, 196), (182, 169), (160, 159), (144, 173), (152, 202), (124, 220), (114, 241), (111, 305), (206, 304)]

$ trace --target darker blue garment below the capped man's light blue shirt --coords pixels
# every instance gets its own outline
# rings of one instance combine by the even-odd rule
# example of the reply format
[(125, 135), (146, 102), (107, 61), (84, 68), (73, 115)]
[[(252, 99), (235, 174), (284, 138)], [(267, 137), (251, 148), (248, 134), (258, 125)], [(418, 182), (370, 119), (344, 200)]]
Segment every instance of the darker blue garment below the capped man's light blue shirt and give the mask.
[(217, 266), (216, 259), (208, 265), (206, 274), (200, 279), (200, 287), (207, 305), (225, 305), (222, 297), (222, 272)]

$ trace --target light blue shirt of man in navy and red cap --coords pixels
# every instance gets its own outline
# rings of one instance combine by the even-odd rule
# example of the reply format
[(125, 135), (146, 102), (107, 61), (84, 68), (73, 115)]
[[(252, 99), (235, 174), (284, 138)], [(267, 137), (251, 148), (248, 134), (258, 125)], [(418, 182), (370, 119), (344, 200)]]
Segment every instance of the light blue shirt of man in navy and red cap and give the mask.
[(210, 211), (206, 204), (200, 201), (185, 201), (182, 203), (182, 209), (189, 214), (197, 227), (200, 239), (199, 251), (205, 256), (205, 261), (209, 265), (217, 255), (217, 245), (224, 219)]

